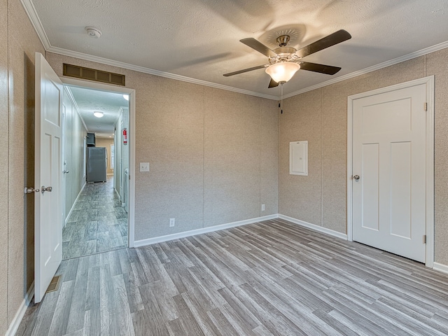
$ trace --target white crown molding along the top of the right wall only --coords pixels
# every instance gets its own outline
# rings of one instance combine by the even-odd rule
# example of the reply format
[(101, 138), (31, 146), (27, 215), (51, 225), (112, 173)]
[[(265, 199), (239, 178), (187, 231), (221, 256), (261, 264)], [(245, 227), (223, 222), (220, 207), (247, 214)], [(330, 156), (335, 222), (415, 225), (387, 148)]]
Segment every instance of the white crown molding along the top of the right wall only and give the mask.
[(302, 94), (304, 92), (316, 90), (316, 89), (318, 89), (320, 87), (325, 87), (325, 86), (328, 86), (328, 85), (339, 83), (339, 82), (342, 82), (343, 80), (347, 80), (347, 79), (350, 79), (350, 78), (354, 78), (354, 77), (363, 75), (365, 73), (369, 73), (369, 72), (372, 72), (372, 71), (383, 69), (383, 68), (386, 68), (387, 66), (391, 66), (391, 65), (394, 65), (394, 64), (405, 62), (405, 61), (407, 61), (409, 59), (413, 59), (413, 58), (416, 58), (416, 57), (427, 55), (427, 54), (430, 54), (431, 52), (435, 52), (437, 50), (442, 50), (444, 48), (448, 48), (448, 41), (445, 41), (445, 42), (433, 45), (433, 46), (428, 47), (428, 48), (424, 48), (424, 49), (418, 50), (416, 52), (411, 52), (410, 54), (407, 54), (407, 55), (404, 55), (404, 56), (400, 56), (400, 57), (391, 59), (391, 60), (386, 61), (386, 62), (382, 62), (382, 63), (376, 64), (376, 65), (369, 66), (368, 68), (365, 68), (365, 69), (362, 69), (362, 70), (359, 70), (359, 71), (354, 71), (354, 72), (351, 72), (351, 73), (347, 73), (344, 76), (340, 76), (340, 77), (337, 77), (337, 78), (334, 78), (334, 79), (330, 79), (330, 80), (327, 80), (327, 81), (325, 81), (323, 83), (318, 83), (316, 85), (305, 87), (302, 90), (298, 90), (298, 91), (295, 91), (295, 92), (291, 92), (291, 93), (285, 94), (285, 95), (283, 95), (283, 99), (290, 98), (290, 97), (293, 97), (293, 96), (297, 96), (297, 94)]

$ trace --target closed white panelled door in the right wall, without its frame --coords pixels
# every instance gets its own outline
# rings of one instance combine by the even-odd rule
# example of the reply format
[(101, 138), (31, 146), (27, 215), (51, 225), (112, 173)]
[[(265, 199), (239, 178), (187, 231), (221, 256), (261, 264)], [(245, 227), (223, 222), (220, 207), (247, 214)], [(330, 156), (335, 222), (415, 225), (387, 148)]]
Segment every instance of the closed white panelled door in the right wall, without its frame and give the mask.
[(353, 240), (424, 262), (426, 85), (353, 100)]

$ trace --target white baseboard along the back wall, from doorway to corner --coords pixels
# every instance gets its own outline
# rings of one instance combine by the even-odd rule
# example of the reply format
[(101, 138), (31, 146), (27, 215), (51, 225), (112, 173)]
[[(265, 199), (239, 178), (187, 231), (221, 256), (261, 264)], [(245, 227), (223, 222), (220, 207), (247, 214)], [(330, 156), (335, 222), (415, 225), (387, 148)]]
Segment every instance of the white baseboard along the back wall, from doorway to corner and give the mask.
[(275, 215), (263, 216), (263, 217), (258, 217), (258, 218), (251, 218), (251, 219), (246, 219), (246, 221), (238, 221), (238, 222), (233, 222), (233, 223), (209, 226), (208, 228), (184, 231), (184, 232), (174, 233), (172, 235), (160, 236), (160, 237), (155, 237), (155, 238), (141, 239), (141, 240), (134, 241), (134, 247), (157, 244), (157, 243), (162, 243), (163, 241), (181, 239), (181, 238), (191, 237), (191, 236), (195, 236), (195, 235), (202, 235), (203, 233), (209, 233), (209, 232), (215, 232), (215, 231), (225, 230), (225, 229), (229, 229), (229, 228), (235, 228), (237, 226), (248, 225), (248, 224), (258, 223), (258, 222), (262, 222), (262, 221), (269, 221), (269, 219), (275, 219), (275, 218), (279, 218), (279, 215), (275, 214)]

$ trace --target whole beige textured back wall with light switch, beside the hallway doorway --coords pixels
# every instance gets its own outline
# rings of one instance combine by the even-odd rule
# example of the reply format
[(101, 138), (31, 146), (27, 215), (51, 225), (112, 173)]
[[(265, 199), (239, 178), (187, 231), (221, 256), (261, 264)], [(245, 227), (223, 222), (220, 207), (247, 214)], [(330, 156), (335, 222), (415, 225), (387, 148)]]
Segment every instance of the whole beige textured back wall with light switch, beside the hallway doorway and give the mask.
[(104, 69), (136, 90), (136, 240), (277, 213), (276, 102), (51, 52), (47, 59), (59, 76), (64, 62)]

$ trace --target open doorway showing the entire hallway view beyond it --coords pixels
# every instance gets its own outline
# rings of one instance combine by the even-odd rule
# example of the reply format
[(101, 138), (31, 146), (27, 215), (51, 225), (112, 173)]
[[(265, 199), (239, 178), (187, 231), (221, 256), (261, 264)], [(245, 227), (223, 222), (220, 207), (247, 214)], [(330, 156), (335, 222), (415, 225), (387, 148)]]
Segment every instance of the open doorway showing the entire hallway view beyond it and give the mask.
[(64, 85), (63, 259), (130, 246), (129, 97)]

